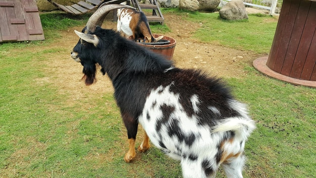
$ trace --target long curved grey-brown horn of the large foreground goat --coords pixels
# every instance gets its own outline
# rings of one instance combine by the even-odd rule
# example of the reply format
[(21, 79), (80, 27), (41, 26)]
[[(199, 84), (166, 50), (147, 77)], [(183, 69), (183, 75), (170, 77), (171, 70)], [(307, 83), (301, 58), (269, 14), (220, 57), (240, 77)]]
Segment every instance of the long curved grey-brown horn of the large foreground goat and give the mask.
[[(85, 33), (88, 33), (88, 31), (94, 32), (96, 26), (101, 26), (102, 22), (104, 20), (104, 17), (106, 17), (111, 10), (120, 9), (120, 8), (129, 8), (129, 9), (135, 9), (131, 6), (127, 5), (117, 5), (117, 4), (110, 4), (110, 5), (104, 5), (97, 9), (89, 18)], [(103, 17), (103, 18), (102, 18)]]

